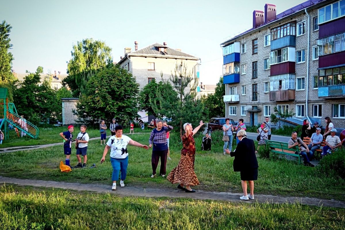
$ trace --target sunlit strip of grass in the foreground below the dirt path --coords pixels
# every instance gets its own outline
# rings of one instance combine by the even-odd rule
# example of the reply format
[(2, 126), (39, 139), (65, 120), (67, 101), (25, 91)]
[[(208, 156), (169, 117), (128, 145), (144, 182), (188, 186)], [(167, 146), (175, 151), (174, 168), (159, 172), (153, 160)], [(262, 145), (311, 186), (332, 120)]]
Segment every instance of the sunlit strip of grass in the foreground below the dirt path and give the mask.
[(1, 229), (344, 229), (345, 209), (2, 186)]

